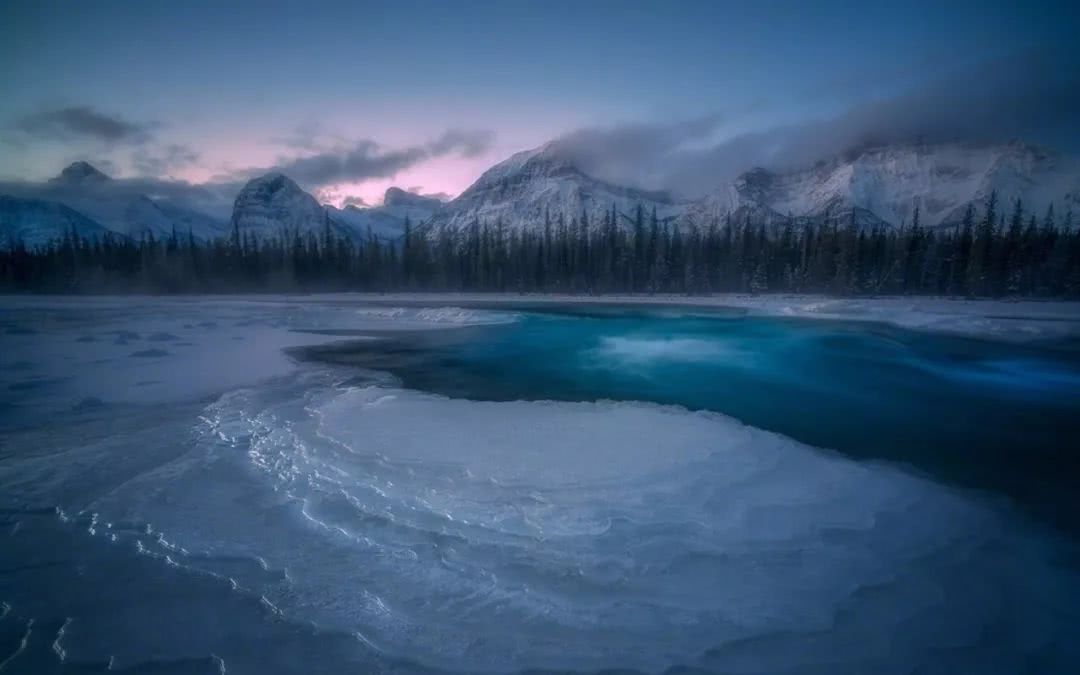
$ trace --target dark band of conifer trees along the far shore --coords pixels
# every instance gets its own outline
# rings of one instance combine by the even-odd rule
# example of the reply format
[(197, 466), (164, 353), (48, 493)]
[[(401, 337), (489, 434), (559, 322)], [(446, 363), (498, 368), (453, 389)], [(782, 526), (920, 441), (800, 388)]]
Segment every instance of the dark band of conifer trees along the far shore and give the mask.
[(474, 222), (460, 232), (410, 227), (400, 241), (321, 233), (190, 234), (139, 240), (69, 233), (0, 248), (0, 291), (222, 293), (446, 291), (505, 293), (818, 293), (974, 297), (1080, 296), (1071, 212), (1041, 217), (991, 194), (953, 227), (861, 230), (853, 216), (818, 225), (730, 218), (667, 224), (640, 207), (599, 221), (549, 215), (542, 229)]

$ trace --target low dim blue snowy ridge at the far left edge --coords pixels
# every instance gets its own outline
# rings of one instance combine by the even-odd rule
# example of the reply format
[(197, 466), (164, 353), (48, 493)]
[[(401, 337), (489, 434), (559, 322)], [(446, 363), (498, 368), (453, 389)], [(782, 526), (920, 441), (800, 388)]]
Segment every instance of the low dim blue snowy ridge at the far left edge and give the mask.
[(0, 246), (18, 241), (29, 247), (40, 246), (72, 231), (92, 238), (108, 230), (58, 202), (0, 195)]

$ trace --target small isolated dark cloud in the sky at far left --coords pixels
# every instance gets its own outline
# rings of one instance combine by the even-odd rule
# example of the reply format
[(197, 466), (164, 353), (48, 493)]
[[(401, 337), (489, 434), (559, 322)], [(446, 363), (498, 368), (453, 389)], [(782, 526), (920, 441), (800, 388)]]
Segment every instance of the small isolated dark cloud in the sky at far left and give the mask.
[(23, 116), (12, 124), (16, 131), (45, 140), (91, 139), (108, 144), (144, 143), (153, 124), (131, 122), (90, 106), (69, 106)]

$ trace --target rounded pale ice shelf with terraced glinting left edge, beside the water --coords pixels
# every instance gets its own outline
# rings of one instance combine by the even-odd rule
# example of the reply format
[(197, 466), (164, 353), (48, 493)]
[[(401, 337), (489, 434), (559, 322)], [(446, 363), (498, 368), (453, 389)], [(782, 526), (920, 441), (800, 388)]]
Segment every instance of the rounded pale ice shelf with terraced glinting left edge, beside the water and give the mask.
[(382, 386), (310, 396), (308, 422), (245, 406), (213, 406), (207, 433), (248, 424), (249, 460), (310, 528), (265, 557), (300, 569), (289, 550), (334, 542), (291, 593), (335, 607), (301, 616), (361, 621), (391, 653), (465, 672), (1077, 657), (1061, 631), (1080, 586), (1013, 516), (720, 415)]

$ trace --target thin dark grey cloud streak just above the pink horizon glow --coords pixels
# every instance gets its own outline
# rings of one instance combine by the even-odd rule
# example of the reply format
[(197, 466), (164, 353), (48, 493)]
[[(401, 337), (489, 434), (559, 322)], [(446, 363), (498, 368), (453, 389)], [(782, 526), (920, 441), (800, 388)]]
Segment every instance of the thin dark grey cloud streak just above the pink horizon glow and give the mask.
[(389, 178), (434, 158), (475, 157), (490, 147), (492, 138), (487, 131), (451, 130), (426, 144), (389, 150), (374, 140), (360, 140), (343, 148), (286, 159), (276, 166), (238, 172), (235, 177), (249, 178), (276, 171), (306, 187)]

